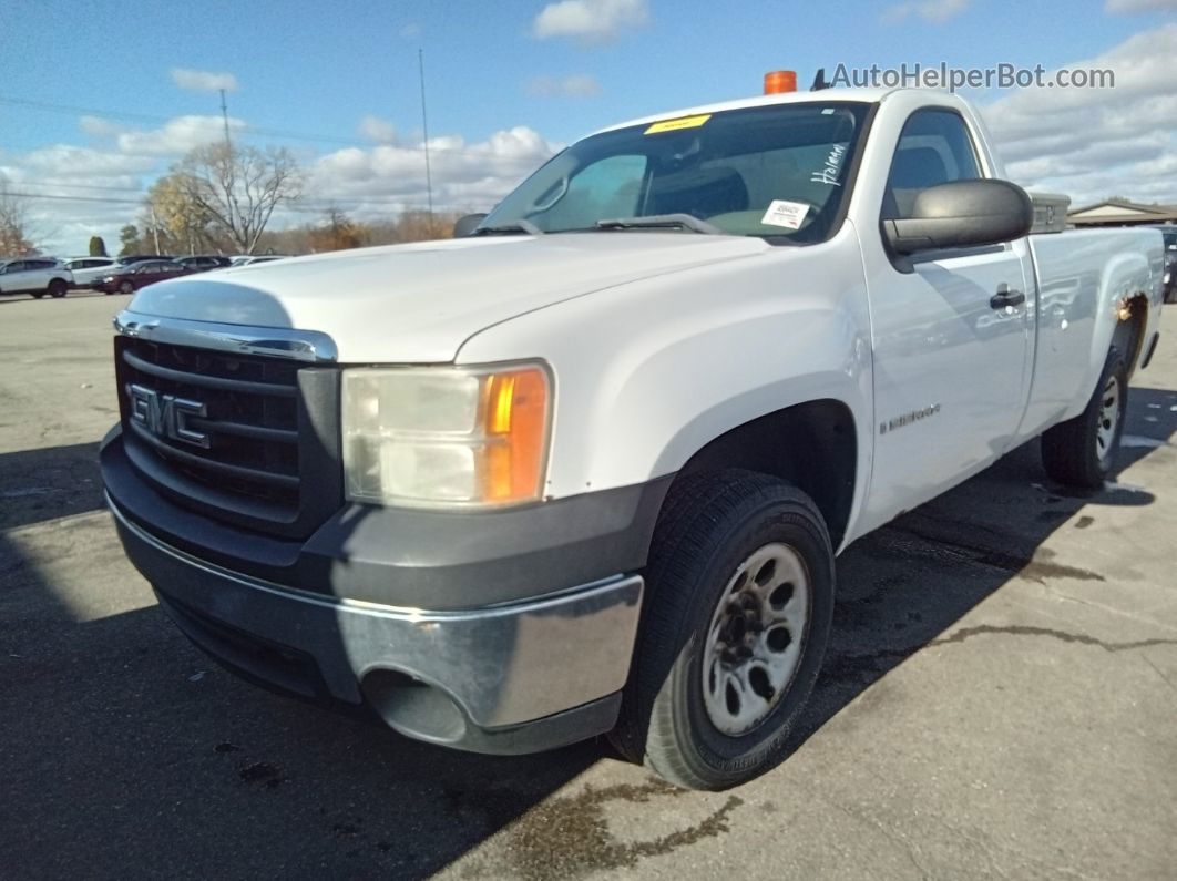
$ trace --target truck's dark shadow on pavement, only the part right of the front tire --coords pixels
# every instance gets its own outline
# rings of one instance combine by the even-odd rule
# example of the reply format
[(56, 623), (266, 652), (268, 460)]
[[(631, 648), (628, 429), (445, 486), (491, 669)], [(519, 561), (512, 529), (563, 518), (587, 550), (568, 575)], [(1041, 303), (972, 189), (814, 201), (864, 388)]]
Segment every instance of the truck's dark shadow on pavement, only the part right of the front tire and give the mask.
[[(1166, 446), (1177, 432), (1177, 392), (1132, 388), (1129, 401), (1121, 470)], [(1013, 575), (1113, 580), (1112, 573), (1070, 566), (1040, 545), (1064, 526), (1089, 528), (1102, 506), (1152, 501), (1146, 489), (1118, 482), (1096, 493), (1052, 485), (1035, 440), (856, 542), (838, 560), (830, 653), (794, 742), (804, 742)]]

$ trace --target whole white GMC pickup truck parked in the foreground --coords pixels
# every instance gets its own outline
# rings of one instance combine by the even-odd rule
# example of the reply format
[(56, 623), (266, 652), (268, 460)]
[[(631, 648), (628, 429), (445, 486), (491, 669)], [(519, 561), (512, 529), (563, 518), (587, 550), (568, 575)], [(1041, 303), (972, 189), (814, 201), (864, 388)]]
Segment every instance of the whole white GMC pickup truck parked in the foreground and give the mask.
[(122, 542), (264, 685), (749, 780), (836, 553), (1038, 435), (1057, 481), (1115, 469), (1161, 235), (1029, 234), (1002, 178), (958, 96), (774, 94), (585, 138), (463, 238), (153, 285), (115, 320)]

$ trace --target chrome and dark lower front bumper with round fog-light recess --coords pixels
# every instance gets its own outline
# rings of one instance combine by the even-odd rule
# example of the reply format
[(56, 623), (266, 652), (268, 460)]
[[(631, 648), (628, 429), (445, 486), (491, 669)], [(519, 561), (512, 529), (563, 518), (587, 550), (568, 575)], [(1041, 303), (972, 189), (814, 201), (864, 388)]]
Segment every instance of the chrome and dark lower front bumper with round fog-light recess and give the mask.
[(177, 625), (248, 679), (366, 707), (403, 734), (474, 752), (564, 746), (617, 719), (639, 575), (477, 609), (400, 608), (199, 560), (133, 522), (109, 495), (107, 502), (127, 555)]

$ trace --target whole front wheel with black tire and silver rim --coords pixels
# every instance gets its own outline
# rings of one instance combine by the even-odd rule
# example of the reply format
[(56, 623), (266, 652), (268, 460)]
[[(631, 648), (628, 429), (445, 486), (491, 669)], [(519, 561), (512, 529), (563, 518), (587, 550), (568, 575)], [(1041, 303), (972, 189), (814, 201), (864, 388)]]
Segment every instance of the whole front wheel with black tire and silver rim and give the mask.
[(727, 469), (671, 490), (612, 739), (691, 789), (726, 789), (787, 755), (833, 613), (833, 550), (799, 489)]

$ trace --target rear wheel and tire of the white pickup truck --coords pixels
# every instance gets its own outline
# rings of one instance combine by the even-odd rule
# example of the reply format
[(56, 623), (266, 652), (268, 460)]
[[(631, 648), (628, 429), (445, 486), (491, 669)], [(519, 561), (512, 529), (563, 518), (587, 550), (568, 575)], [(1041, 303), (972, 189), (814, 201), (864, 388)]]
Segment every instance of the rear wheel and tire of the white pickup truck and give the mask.
[(1059, 483), (1099, 489), (1115, 470), (1128, 412), (1128, 368), (1118, 349), (1108, 353), (1086, 409), (1042, 435), (1042, 463)]

